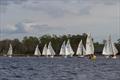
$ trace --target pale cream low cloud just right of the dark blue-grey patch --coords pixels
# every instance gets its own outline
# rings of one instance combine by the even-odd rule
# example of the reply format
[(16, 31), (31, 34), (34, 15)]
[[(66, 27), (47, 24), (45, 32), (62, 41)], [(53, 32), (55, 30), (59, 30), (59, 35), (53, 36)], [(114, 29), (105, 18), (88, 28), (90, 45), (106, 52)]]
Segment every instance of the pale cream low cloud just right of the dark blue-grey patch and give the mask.
[(24, 23), (25, 31), (28, 33), (52, 33), (54, 31), (63, 30), (61, 27), (53, 27), (47, 24), (39, 24), (39, 23)]

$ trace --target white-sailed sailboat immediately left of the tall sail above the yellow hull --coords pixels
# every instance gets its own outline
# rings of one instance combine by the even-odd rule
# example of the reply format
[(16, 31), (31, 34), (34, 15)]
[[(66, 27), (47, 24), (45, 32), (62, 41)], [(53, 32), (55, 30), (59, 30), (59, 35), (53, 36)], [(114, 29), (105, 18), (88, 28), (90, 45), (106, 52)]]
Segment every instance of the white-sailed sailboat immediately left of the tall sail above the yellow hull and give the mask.
[(82, 40), (81, 40), (79, 45), (78, 45), (76, 55), (78, 55), (80, 57), (84, 57), (85, 52), (86, 51), (85, 51), (84, 45), (83, 45)]

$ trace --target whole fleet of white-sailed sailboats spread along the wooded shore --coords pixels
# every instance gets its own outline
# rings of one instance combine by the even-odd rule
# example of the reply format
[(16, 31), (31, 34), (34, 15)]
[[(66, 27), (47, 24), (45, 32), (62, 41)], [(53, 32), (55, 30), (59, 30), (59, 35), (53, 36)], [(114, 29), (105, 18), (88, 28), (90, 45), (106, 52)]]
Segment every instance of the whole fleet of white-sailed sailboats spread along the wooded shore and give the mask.
[[(116, 55), (118, 53), (117, 48), (115, 47), (115, 44), (112, 42), (111, 40), (111, 36), (108, 37), (108, 39), (106, 40), (105, 44), (104, 44), (104, 48), (102, 51), (102, 54), (104, 56), (106, 56), (107, 58), (109, 56), (113, 56), (112, 58), (116, 59)], [(7, 56), (8, 57), (12, 57), (13, 55), (13, 48), (12, 45), (9, 45), (9, 49), (7, 52)], [(54, 58), (54, 56), (56, 55), (51, 42), (49, 42), (48, 46), (47, 44), (44, 45), (43, 47), (43, 51), (42, 54), (39, 50), (39, 46), (37, 45), (34, 51), (34, 55), (35, 56), (50, 56), (51, 58)], [(74, 51), (71, 47), (70, 44), (70, 40), (67, 40), (67, 43), (65, 44), (65, 41), (63, 41), (62, 45), (61, 45), (61, 49), (60, 49), (60, 53), (59, 55), (64, 56), (65, 58), (67, 58), (67, 56), (73, 56), (74, 55)], [(93, 44), (93, 40), (91, 37), (91, 34), (87, 35), (87, 39), (86, 39), (86, 48), (83, 45), (82, 40), (79, 42), (77, 51), (76, 51), (76, 55), (79, 57), (84, 57), (84, 56), (88, 56), (88, 55), (94, 55), (94, 44)]]

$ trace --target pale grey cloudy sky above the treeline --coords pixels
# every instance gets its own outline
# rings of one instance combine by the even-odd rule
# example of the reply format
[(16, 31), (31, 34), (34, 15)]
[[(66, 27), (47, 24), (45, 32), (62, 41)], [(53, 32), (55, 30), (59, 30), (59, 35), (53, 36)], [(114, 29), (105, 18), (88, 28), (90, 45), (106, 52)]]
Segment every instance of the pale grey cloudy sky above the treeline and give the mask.
[(120, 0), (0, 0), (0, 39), (91, 33), (120, 38)]

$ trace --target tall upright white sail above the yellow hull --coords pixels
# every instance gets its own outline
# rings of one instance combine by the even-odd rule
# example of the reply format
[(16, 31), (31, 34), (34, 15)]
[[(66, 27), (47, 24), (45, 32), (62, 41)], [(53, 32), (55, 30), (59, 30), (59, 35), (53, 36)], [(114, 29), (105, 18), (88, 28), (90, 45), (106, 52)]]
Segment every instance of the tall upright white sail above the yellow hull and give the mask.
[(86, 54), (85, 55), (91, 55), (91, 54), (94, 54), (94, 45), (93, 45), (91, 35), (88, 34), (87, 40), (86, 40)]

